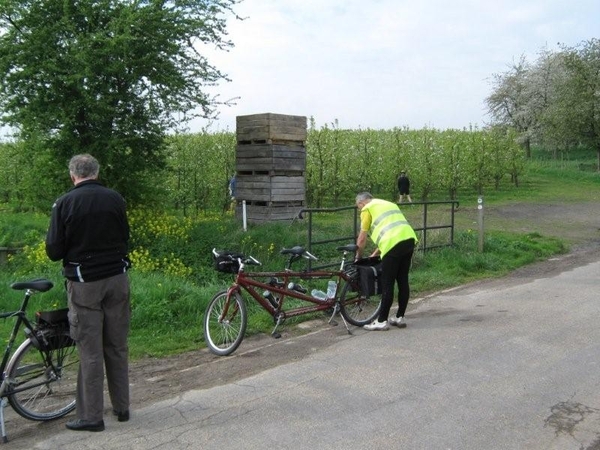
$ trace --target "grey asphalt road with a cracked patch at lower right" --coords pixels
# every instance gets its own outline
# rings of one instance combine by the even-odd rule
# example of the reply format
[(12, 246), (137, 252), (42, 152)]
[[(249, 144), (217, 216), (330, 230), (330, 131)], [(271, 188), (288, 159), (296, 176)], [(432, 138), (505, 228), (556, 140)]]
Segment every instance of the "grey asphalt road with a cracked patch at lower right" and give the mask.
[(557, 266), (437, 294), (406, 329), (358, 329), (33, 448), (600, 450), (600, 262)]

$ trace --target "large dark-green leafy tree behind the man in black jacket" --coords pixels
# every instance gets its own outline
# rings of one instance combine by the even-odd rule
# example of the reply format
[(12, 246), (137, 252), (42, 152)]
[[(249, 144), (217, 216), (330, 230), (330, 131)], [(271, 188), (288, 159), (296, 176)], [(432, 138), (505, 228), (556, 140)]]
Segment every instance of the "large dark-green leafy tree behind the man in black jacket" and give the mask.
[(206, 87), (227, 77), (202, 50), (233, 45), (237, 2), (2, 0), (0, 119), (62, 168), (33, 176), (61, 173), (63, 190), (69, 158), (91, 153), (108, 185), (143, 200), (167, 133), (215, 113)]

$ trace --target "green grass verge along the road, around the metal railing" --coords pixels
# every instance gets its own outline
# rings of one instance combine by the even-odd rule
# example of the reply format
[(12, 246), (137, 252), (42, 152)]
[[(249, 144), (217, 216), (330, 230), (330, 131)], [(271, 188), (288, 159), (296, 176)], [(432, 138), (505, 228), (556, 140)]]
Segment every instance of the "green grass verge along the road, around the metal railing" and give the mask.
[[(593, 155), (592, 155), (593, 156)], [(579, 171), (576, 161), (533, 161), (527, 164), (526, 173), (519, 188), (503, 187), (486, 192), (486, 207), (502, 207), (516, 203), (540, 204), (560, 201), (589, 202), (598, 200), (600, 177), (597, 173)], [(514, 218), (495, 218), (486, 222), (485, 251), (478, 251), (478, 235), (474, 192), (460, 193), (460, 208), (456, 216), (457, 230), (452, 248), (417, 252), (411, 271), (412, 297), (490, 277), (499, 277), (511, 270), (567, 252), (570, 243), (559, 240), (553, 233), (521, 232), (523, 223)], [(419, 226), (418, 206), (403, 207), (413, 225)], [(447, 221), (448, 208), (433, 208), (429, 224)], [(331, 214), (315, 219), (316, 239), (331, 239), (351, 235), (352, 216)], [(522, 219), (534, 222), (534, 219)], [(35, 214), (12, 214), (0, 210), (0, 246), (30, 245), (43, 241), (48, 217)], [(531, 225), (531, 224), (530, 224)], [(279, 254), (283, 247), (306, 245), (307, 223), (304, 221), (251, 225), (242, 230), (239, 220), (231, 216), (214, 216), (201, 220), (189, 230), (185, 242), (169, 239), (150, 240), (156, 245), (152, 250), (157, 257), (168, 258), (174, 253), (192, 274), (186, 277), (171, 276), (164, 270), (154, 273), (131, 271), (132, 327), (130, 350), (133, 359), (198, 349), (204, 346), (202, 318), (207, 302), (219, 290), (225, 288), (232, 276), (219, 274), (212, 268), (210, 250), (213, 247), (237, 250), (252, 254), (263, 263), (265, 270), (279, 270), (285, 266), (285, 258)], [(429, 238), (428, 238), (429, 239)], [(439, 233), (444, 241), (447, 236)], [(338, 243), (319, 247), (314, 253), (320, 263), (333, 262), (339, 258), (334, 247)], [(43, 251), (28, 250), (18, 255), (0, 270), (0, 286), (6, 288), (0, 294), (0, 309), (13, 309), (20, 301), (21, 293), (7, 288), (15, 280), (46, 277), (55, 283), (51, 291), (35, 296), (30, 311), (52, 309), (66, 305), (59, 263), (49, 263)], [(302, 268), (301, 262), (296, 266)], [(324, 286), (306, 286), (312, 287)], [(250, 305), (248, 333), (269, 333), (274, 324), (270, 316)], [(299, 319), (295, 319), (296, 321)], [(287, 321), (286, 326), (294, 323)], [(10, 320), (0, 321), (0, 335), (6, 336)]]

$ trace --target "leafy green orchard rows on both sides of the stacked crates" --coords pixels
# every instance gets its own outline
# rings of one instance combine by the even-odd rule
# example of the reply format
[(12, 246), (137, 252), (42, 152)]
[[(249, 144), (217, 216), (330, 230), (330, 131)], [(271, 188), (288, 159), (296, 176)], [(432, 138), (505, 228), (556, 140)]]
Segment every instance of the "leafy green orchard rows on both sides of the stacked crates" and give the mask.
[[(38, 195), (33, 176), (30, 183), (15, 176), (20, 173), (18, 167), (30, 163), (11, 162), (13, 146), (0, 145), (0, 167), (6, 161), (6, 167), (12, 168), (0, 171), (0, 179), (11, 186), (6, 188), (5, 198), (15, 203), (18, 193), (25, 192), (27, 198), (37, 201), (22, 200), (20, 204), (48, 211), (68, 184), (60, 189), (49, 185)], [(236, 146), (233, 132), (171, 136), (166, 142), (165, 169), (152, 176), (147, 173), (143, 180), (151, 186), (142, 196), (144, 206), (174, 209), (186, 217), (227, 211), (227, 183), (235, 172)], [(518, 185), (523, 161), (516, 134), (501, 128), (344, 130), (337, 124), (316, 129), (311, 122), (306, 141), (306, 206), (345, 206), (363, 190), (395, 200), (401, 170), (408, 173), (415, 200), (457, 199), (465, 189), (488, 194)], [(56, 164), (48, 160), (47, 166)], [(66, 169), (54, 171), (65, 183), (69, 181)], [(40, 183), (48, 185), (45, 179)]]

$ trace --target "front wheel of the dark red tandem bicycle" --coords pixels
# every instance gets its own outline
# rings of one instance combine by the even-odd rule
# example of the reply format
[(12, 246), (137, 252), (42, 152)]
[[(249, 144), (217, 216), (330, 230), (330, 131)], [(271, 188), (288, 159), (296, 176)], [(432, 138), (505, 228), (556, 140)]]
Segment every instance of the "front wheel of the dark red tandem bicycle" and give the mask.
[[(227, 315), (221, 319), (224, 311)], [(242, 296), (233, 292), (227, 299), (227, 291), (218, 292), (204, 314), (204, 342), (212, 353), (230, 355), (242, 343), (247, 324), (248, 313)]]

